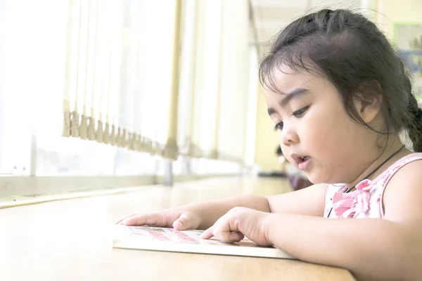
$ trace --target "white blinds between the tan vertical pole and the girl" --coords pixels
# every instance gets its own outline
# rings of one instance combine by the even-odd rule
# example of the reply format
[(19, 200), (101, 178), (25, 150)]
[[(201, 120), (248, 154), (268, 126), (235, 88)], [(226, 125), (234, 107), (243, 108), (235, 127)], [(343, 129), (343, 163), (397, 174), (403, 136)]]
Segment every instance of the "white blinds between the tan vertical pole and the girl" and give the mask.
[[(248, 1), (186, 2), (196, 4), (196, 25), (194, 32), (184, 33), (188, 46), (182, 58), (190, 52), (193, 61), (183, 60), (180, 95), (185, 94), (185, 104), (192, 105), (192, 118), (187, 123), (190, 134), (180, 130), (179, 143), (189, 143), (192, 157), (244, 163), (250, 81)], [(185, 27), (189, 22), (185, 18)], [(186, 116), (179, 115), (179, 123), (186, 124)]]

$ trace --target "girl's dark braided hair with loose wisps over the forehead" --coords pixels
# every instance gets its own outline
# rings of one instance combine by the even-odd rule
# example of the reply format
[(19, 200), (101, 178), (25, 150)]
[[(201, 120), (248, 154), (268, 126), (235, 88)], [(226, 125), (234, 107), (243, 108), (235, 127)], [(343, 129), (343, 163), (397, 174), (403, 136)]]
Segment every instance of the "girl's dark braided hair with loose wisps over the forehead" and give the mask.
[(353, 100), (382, 97), (383, 135), (407, 130), (422, 152), (422, 110), (411, 93), (404, 64), (384, 34), (363, 15), (328, 9), (305, 15), (281, 30), (260, 63), (260, 82), (277, 91), (274, 70), (289, 67), (330, 80), (356, 122), (366, 124)]

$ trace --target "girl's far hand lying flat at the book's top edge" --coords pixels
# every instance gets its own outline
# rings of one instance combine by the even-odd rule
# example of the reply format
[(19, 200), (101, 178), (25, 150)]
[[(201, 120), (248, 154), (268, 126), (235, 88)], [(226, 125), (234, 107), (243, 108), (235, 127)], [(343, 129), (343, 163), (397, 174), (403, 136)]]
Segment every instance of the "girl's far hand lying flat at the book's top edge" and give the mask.
[(132, 214), (117, 221), (124, 226), (157, 226), (176, 230), (196, 229), (201, 218), (190, 209), (165, 209), (151, 213)]

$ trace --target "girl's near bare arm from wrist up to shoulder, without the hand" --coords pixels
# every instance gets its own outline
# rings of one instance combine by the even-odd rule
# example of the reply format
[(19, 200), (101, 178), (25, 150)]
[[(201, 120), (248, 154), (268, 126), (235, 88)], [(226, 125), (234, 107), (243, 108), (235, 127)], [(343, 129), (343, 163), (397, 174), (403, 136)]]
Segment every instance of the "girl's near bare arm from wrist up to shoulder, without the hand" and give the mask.
[(304, 261), (352, 270), (358, 280), (422, 278), (422, 161), (397, 171), (385, 189), (384, 219), (273, 214), (267, 239)]

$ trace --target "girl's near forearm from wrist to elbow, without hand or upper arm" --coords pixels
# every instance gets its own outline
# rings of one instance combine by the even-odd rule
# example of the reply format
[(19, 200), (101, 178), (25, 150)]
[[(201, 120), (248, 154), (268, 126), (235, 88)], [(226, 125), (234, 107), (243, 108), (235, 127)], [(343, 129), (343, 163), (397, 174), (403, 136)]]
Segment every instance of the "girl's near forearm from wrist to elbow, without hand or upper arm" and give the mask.
[(347, 268), (358, 280), (417, 280), (422, 275), (421, 227), (381, 218), (273, 214), (266, 228), (269, 244), (302, 261)]

